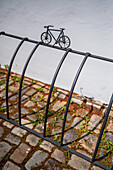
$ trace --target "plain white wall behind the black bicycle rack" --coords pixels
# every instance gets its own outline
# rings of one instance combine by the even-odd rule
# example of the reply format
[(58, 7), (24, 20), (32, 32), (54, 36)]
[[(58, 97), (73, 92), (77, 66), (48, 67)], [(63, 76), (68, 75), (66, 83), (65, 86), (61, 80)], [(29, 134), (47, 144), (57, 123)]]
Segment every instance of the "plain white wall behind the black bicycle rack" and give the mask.
[[(66, 28), (71, 48), (113, 58), (112, 0), (0, 0), (0, 31), (40, 40), (43, 26)], [(18, 40), (0, 37), (0, 63), (9, 64)], [(34, 47), (25, 43), (14, 62), (13, 70), (21, 73)], [(33, 56), (26, 75), (51, 83), (53, 73), (64, 52), (42, 48)], [(69, 55), (56, 82), (70, 89), (82, 56)], [(81, 73), (75, 91), (108, 102), (113, 91), (113, 66), (89, 59)]]

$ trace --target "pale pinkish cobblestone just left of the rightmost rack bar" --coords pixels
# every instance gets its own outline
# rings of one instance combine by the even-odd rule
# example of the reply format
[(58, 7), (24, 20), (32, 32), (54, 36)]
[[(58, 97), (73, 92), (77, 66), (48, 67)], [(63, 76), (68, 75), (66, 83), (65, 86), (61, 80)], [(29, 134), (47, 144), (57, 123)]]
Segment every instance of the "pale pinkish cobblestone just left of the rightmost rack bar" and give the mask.
[(93, 115), (89, 121), (89, 128), (93, 129), (94, 127), (96, 127), (99, 124), (100, 120), (101, 120), (100, 116)]

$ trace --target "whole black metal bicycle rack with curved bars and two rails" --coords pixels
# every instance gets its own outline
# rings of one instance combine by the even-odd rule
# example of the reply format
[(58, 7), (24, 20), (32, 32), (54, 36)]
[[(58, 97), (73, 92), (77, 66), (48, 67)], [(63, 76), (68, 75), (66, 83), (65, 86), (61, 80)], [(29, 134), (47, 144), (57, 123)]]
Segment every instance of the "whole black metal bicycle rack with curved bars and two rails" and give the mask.
[[(97, 55), (93, 55), (93, 54), (90, 54), (90, 53), (84, 53), (84, 52), (81, 52), (81, 51), (76, 51), (76, 50), (72, 50), (72, 49), (62, 49), (60, 47), (57, 47), (57, 46), (52, 46), (52, 45), (46, 45), (42, 42), (38, 42), (38, 41), (35, 41), (35, 40), (31, 40), (31, 39), (28, 39), (28, 38), (23, 38), (23, 37), (20, 37), (20, 36), (15, 36), (15, 35), (12, 35), (12, 34), (7, 34), (5, 32), (0, 32), (0, 35), (2, 36), (7, 36), (7, 37), (10, 37), (10, 38), (15, 38), (15, 39), (19, 39), (21, 40), (20, 43), (18, 44), (12, 58), (11, 58), (11, 61), (10, 61), (10, 65), (9, 65), (9, 69), (8, 69), (8, 74), (7, 74), (7, 81), (6, 81), (6, 109), (7, 109), (7, 117), (3, 116), (3, 115), (0, 115), (0, 118), (3, 118), (4, 120), (7, 120), (35, 135), (38, 135), (39, 137), (63, 148), (64, 150), (69, 150), (71, 153), (89, 161), (90, 163), (93, 163), (94, 165), (97, 165), (101, 168), (104, 168), (104, 169), (109, 169), (106, 165), (96, 161), (95, 157), (96, 157), (96, 154), (97, 154), (97, 151), (98, 151), (98, 148), (99, 148), (99, 144), (100, 144), (100, 141), (101, 141), (101, 138), (102, 138), (102, 135), (103, 135), (103, 132), (104, 132), (104, 129), (105, 129), (105, 126), (106, 126), (106, 123), (107, 123), (107, 119), (108, 119), (108, 116), (109, 116), (109, 113), (110, 113), (110, 110), (111, 110), (111, 107), (112, 107), (112, 103), (113, 103), (113, 94), (111, 95), (111, 99), (110, 99), (110, 102), (109, 102), (109, 105), (108, 105), (108, 108), (107, 108), (107, 112), (106, 112), (106, 115), (105, 115), (105, 118), (104, 118), (104, 121), (103, 121), (103, 124), (102, 124), (102, 128), (100, 130), (100, 134), (99, 134), (99, 138), (97, 140), (97, 144), (96, 144), (96, 147), (95, 147), (95, 151), (94, 151), (94, 154), (93, 154), (93, 157), (92, 159), (89, 158), (88, 156), (86, 155), (83, 155), (65, 145), (63, 145), (63, 136), (64, 136), (64, 128), (65, 128), (65, 123), (66, 123), (66, 117), (67, 117), (67, 113), (68, 113), (68, 109), (69, 109), (69, 104), (70, 104), (70, 100), (71, 100), (71, 97), (72, 97), (72, 94), (73, 94), (73, 91), (74, 91), (74, 88), (75, 88), (75, 85), (77, 83), (77, 80), (80, 76), (80, 73), (81, 73), (81, 70), (82, 68), (84, 67), (85, 65), (85, 62), (87, 61), (88, 58), (94, 58), (94, 59), (99, 59), (99, 60), (104, 60), (104, 61), (107, 61), (107, 62), (111, 62), (113, 63), (113, 59), (110, 59), (110, 58), (105, 58), (105, 57), (102, 57), (102, 56), (97, 56)], [(19, 95), (18, 95), (18, 109), (19, 109), (19, 123), (15, 122), (14, 120), (10, 119), (9, 118), (9, 105), (8, 105), (8, 85), (9, 85), (9, 77), (10, 77), (10, 72), (11, 72), (11, 68), (12, 68), (12, 65), (13, 65), (13, 62), (15, 60), (15, 57), (18, 53), (18, 51), (20, 50), (21, 46), (23, 45), (23, 43), (27, 41), (29, 43), (34, 43), (36, 44), (35, 47), (32, 49), (26, 63), (25, 63), (25, 66), (23, 68), (23, 72), (22, 72), (22, 76), (21, 76), (21, 80), (20, 80), (20, 87), (19, 87)], [(22, 83), (23, 83), (23, 79), (24, 79), (24, 75), (25, 75), (25, 72), (26, 72), (26, 69), (27, 69), (27, 66), (30, 62), (30, 59), (32, 58), (33, 54), (35, 53), (35, 51), (37, 50), (37, 48), (39, 46), (47, 46), (47, 47), (50, 47), (50, 48), (54, 48), (54, 49), (58, 49), (58, 50), (63, 50), (65, 51), (63, 57), (61, 58), (58, 66), (57, 66), (57, 69), (55, 71), (55, 74), (53, 76), (53, 80), (52, 80), (52, 83), (51, 83), (51, 87), (50, 87), (50, 91), (49, 91), (49, 95), (48, 95), (48, 100), (47, 100), (47, 105), (46, 105), (46, 112), (45, 112), (45, 121), (44, 121), (44, 132), (43, 132), (43, 135), (32, 130), (32, 129), (29, 129), (28, 127), (25, 127), (21, 124), (21, 90), (22, 90)], [(75, 75), (75, 78), (73, 80), (73, 83), (72, 83), (72, 86), (71, 86), (71, 89), (70, 89), (70, 93), (69, 93), (69, 97), (68, 97), (68, 101), (67, 101), (67, 105), (66, 105), (66, 110), (65, 110), (65, 114), (64, 114), (64, 119), (63, 119), (63, 126), (62, 126), (62, 133), (61, 133), (61, 142), (58, 143), (52, 139), (50, 139), (49, 137), (46, 136), (46, 122), (47, 122), (47, 115), (48, 115), (48, 108), (49, 108), (49, 104), (50, 104), (50, 99), (51, 99), (51, 94), (52, 94), (52, 91), (53, 91), (53, 88), (54, 88), (54, 84), (55, 84), (55, 81), (57, 79), (57, 76), (58, 76), (58, 73), (62, 67), (62, 64), (65, 60), (65, 58), (67, 57), (67, 55), (69, 53), (75, 53), (75, 54), (78, 54), (78, 55), (82, 55), (84, 56), (82, 62), (81, 62), (81, 65), (79, 66), (79, 69)], [(113, 166), (112, 168), (113, 169)]]

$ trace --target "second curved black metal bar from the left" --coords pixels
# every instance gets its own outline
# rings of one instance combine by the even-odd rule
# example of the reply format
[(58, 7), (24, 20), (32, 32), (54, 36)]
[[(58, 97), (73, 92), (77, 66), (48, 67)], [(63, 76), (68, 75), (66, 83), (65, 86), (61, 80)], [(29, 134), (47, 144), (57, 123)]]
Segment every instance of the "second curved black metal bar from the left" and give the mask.
[(19, 97), (18, 97), (18, 110), (19, 110), (19, 124), (21, 125), (21, 89), (22, 89), (22, 83), (23, 83), (23, 79), (24, 79), (24, 74), (25, 74), (25, 71), (27, 69), (27, 66), (30, 62), (30, 59), (31, 57), (33, 56), (34, 52), (36, 51), (37, 47), (40, 45), (40, 43), (37, 43), (36, 46), (33, 48), (33, 50), (31, 51), (31, 54), (29, 55), (26, 63), (25, 63), (25, 66), (24, 66), (24, 69), (23, 69), (23, 72), (22, 72), (22, 76), (21, 76), (21, 80), (20, 80), (20, 86), (19, 86)]

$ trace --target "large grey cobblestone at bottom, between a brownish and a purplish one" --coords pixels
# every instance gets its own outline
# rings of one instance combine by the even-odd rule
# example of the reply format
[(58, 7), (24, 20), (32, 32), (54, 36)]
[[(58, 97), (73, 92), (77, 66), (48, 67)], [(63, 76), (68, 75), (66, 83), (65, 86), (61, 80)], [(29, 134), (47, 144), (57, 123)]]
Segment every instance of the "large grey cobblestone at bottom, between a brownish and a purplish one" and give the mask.
[(32, 157), (25, 164), (25, 168), (27, 170), (31, 170), (32, 168), (36, 168), (39, 165), (41, 165), (41, 163), (44, 162), (47, 157), (48, 157), (47, 153), (45, 153), (41, 150), (38, 150), (32, 155)]

